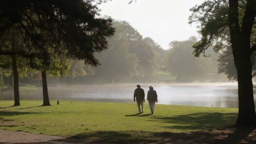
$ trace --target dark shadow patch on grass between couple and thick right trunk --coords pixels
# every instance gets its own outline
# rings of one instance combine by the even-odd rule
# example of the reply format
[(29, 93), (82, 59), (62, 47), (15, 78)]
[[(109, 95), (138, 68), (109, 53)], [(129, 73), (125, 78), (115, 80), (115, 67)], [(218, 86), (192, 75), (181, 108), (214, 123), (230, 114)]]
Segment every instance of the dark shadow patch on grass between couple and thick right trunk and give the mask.
[[(187, 115), (169, 116), (153, 116), (149, 121), (157, 121), (162, 123), (172, 123), (171, 126), (165, 128), (180, 130), (196, 130), (205, 128), (217, 128), (228, 125), (234, 125), (237, 119), (237, 113), (192, 113)], [(177, 125), (174, 125), (177, 124)]]

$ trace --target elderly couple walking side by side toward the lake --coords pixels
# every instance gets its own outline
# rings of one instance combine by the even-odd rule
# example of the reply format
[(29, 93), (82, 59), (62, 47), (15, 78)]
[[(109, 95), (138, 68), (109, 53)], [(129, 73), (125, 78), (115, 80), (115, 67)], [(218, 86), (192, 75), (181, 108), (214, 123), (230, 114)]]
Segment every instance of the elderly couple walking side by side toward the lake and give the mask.
[[(148, 88), (149, 88), (149, 90), (147, 92), (147, 100), (148, 100), (151, 114), (153, 114), (154, 108), (155, 108), (155, 103), (158, 102), (157, 92), (155, 90), (153, 90), (154, 88), (152, 85), (149, 85)], [(141, 88), (140, 84), (137, 84), (137, 89), (134, 90), (133, 100), (134, 100), (134, 102), (135, 101), (137, 102), (139, 113), (143, 113), (143, 103), (145, 102), (145, 92)]]

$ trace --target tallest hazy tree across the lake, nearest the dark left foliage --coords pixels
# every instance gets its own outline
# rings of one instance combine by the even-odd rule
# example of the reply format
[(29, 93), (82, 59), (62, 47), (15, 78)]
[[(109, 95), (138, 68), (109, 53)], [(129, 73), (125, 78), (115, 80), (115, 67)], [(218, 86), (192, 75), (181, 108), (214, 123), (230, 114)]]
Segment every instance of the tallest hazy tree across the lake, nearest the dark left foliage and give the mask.
[[(109, 49), (97, 54), (101, 66), (94, 68), (95, 74), (107, 82), (127, 79), (137, 74), (138, 58), (130, 52), (137, 40), (135, 31), (126, 21), (114, 21), (115, 34), (108, 39)], [(135, 34), (135, 35), (134, 35)]]

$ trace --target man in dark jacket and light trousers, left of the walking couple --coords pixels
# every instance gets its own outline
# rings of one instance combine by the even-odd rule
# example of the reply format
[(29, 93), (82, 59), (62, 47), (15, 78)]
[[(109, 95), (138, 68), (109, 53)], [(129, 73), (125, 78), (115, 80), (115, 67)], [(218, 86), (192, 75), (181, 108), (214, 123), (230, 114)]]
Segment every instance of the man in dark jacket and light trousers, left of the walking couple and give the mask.
[(144, 90), (141, 88), (140, 84), (137, 84), (137, 89), (134, 90), (133, 100), (134, 102), (137, 101), (139, 113), (143, 113), (143, 102), (145, 102), (145, 93)]

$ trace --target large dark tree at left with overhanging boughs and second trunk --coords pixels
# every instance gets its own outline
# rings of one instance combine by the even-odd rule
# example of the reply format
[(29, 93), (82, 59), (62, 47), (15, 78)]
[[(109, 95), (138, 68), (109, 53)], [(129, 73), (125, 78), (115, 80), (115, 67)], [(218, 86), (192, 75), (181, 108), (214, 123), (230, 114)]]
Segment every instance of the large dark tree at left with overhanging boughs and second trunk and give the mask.
[[(19, 30), (30, 51), (28, 54), (16, 51), (6, 53), (1, 49), (0, 54), (26, 56), (30, 58), (32, 67), (35, 58), (41, 59), (43, 66), (47, 66), (50, 63), (47, 48), (50, 47), (55, 53), (65, 53), (70, 58), (84, 60), (85, 64), (92, 66), (99, 65), (94, 53), (108, 48), (106, 37), (113, 35), (114, 28), (111, 27), (111, 19), (96, 18), (98, 8), (91, 2), (3, 0), (0, 6), (0, 36), (6, 35), (13, 27)], [(45, 83), (44, 99), (47, 101), (43, 105), (49, 105), (46, 71), (41, 70)]]

